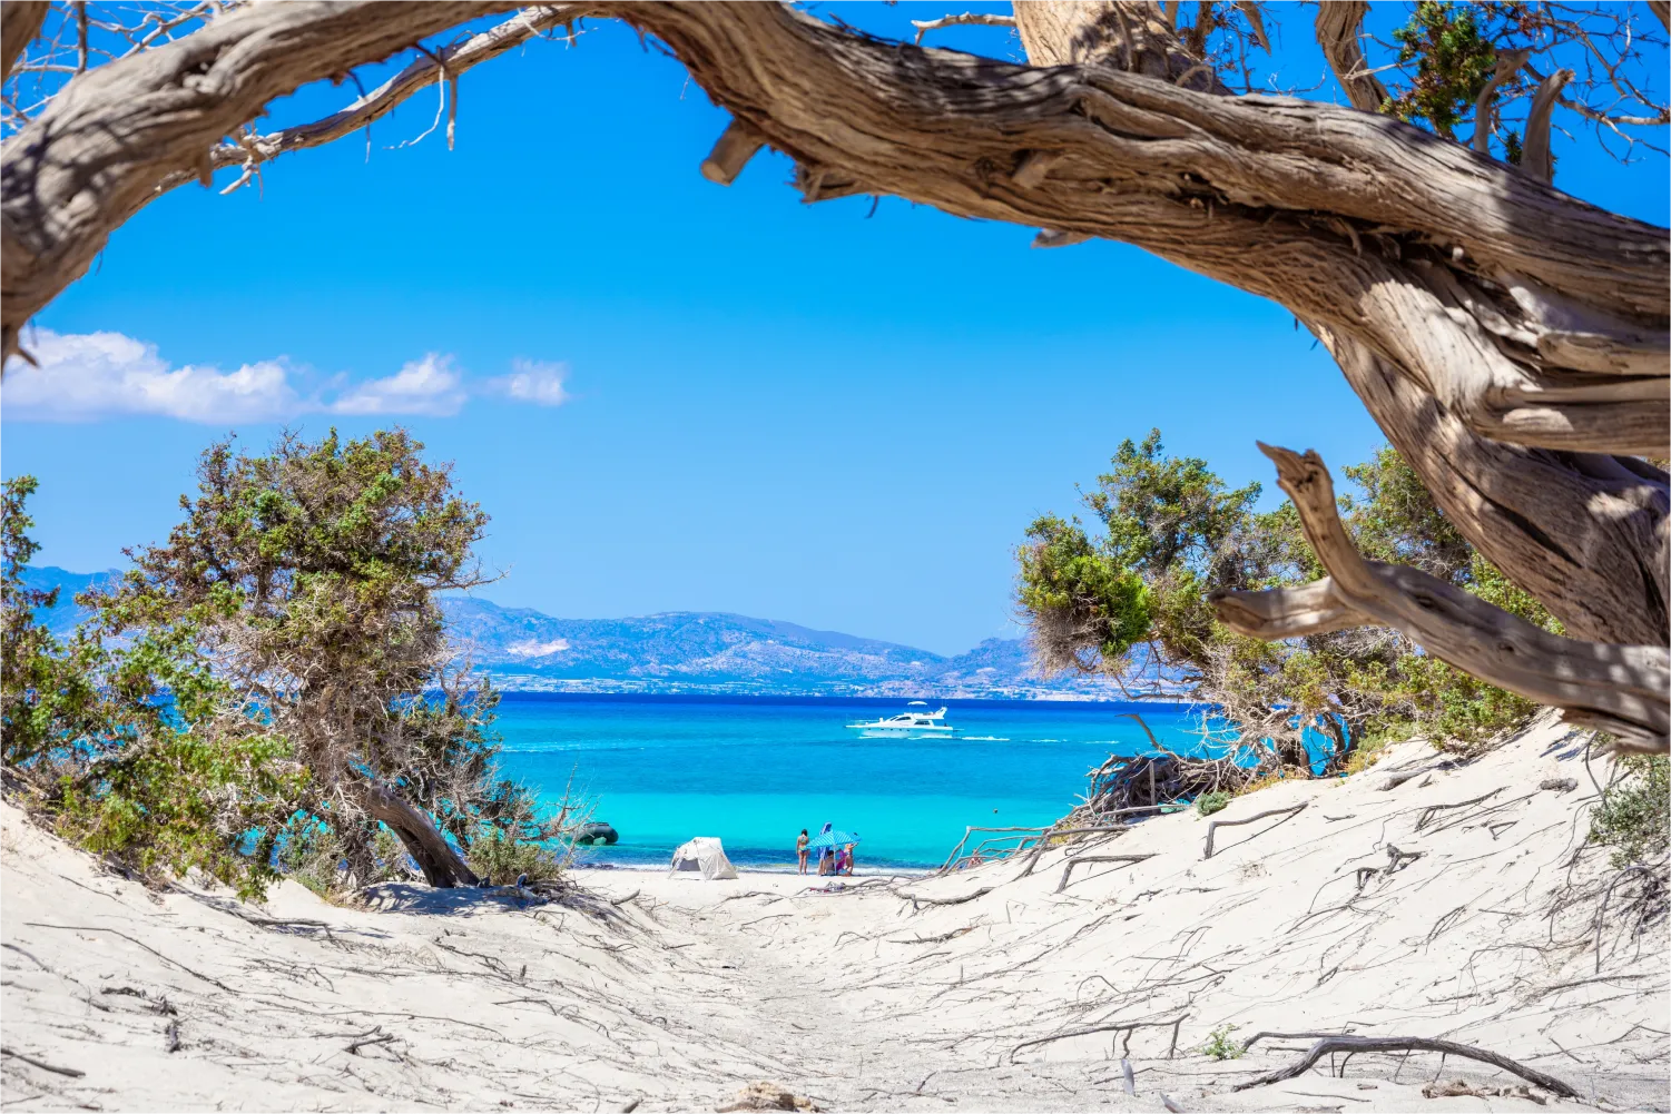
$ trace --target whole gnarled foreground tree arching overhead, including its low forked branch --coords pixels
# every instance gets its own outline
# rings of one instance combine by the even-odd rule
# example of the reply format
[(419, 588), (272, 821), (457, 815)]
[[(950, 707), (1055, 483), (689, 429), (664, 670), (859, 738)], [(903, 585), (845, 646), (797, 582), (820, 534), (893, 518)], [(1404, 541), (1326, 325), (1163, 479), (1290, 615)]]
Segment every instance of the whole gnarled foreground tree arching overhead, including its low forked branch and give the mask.
[[(1629, 745), (1668, 747), (1671, 474), (1643, 458), (1671, 456), (1671, 234), (1557, 190), (1549, 142), (1559, 114), (1651, 145), (1671, 120), (1663, 0), (1415, 0), (1390, 42), (1365, 35), (1364, 0), (1318, 0), (1335, 89), (1308, 100), (1252, 80), (1280, 15), (1260, 0), (1011, 0), (921, 27), (1014, 28), (1026, 63), (779, 0), (540, 5), (496, 23), (476, 22), (505, 10), (483, 0), (137, 8), (0, 3), (0, 354), (27, 356), (30, 316), (162, 192), (217, 170), (237, 185), (421, 89), (456, 92), (518, 43), (618, 18), (732, 114), (702, 165), (715, 182), (772, 147), (807, 200), (886, 194), (1033, 225), (1041, 246), (1123, 241), (1285, 306), (1455, 529), (1571, 638), (1364, 565), (1322, 463), (1282, 454), (1330, 576), (1225, 596), (1223, 621), (1258, 638), (1399, 628)], [(399, 52), (409, 62), (339, 112), (261, 129), (276, 99)]]

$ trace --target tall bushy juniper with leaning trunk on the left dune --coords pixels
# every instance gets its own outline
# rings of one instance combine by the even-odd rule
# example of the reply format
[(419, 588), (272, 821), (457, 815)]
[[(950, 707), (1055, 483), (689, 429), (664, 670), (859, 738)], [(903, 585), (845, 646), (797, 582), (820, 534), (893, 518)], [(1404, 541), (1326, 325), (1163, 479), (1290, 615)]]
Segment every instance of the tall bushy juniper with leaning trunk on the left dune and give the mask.
[(449, 663), (436, 596), (481, 583), (488, 518), (421, 449), (398, 429), (214, 444), (167, 543), (84, 600), (160, 693), (199, 693), (177, 711), (199, 738), (282, 743), (301, 783), (281, 812), (326, 825), (359, 879), (381, 822), (431, 884), (475, 884), (478, 830), (551, 832), (496, 773), (495, 693)]

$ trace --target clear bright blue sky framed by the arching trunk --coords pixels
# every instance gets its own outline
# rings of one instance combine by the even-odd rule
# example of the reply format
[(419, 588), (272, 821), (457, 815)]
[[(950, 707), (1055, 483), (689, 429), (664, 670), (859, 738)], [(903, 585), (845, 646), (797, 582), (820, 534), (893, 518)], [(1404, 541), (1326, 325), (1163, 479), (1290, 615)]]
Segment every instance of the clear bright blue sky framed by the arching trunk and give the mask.
[[(884, 30), (942, 13), (847, 7)], [(942, 42), (1013, 48), (1001, 30)], [(1016, 633), (1023, 528), (1071, 509), (1121, 438), (1160, 426), (1232, 483), (1270, 479), (1255, 438), (1335, 464), (1380, 441), (1280, 307), (1138, 251), (1033, 251), (1031, 229), (897, 199), (802, 205), (779, 157), (707, 182), (725, 115), (622, 27), (470, 72), (456, 150), (388, 149), (431, 115), (423, 94), (379, 124), (369, 160), (356, 137), (269, 164), (259, 190), (175, 190), (38, 317), (48, 346), (109, 331), (155, 351), (107, 359), (247, 367), (254, 391), (169, 416), (219, 397), (192, 372), (127, 404), (160, 413), (52, 413), (12, 376), (0, 474), (42, 479), (42, 563), (105, 568), (162, 538), (229, 429), (259, 446), (282, 421), (399, 421), (493, 514), (491, 600), (740, 611), (956, 653)], [(1564, 189), (1671, 217), (1663, 164), (1556, 149)]]

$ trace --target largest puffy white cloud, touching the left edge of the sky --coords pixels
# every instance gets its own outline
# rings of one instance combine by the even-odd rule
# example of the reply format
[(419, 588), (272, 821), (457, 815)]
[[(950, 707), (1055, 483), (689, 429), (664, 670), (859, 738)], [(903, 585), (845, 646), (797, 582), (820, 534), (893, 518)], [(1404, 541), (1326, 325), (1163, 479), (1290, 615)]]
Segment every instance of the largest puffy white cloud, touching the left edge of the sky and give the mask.
[(60, 336), (37, 329), (27, 347), (38, 367), (12, 359), (0, 381), (0, 418), (77, 421), (107, 414), (162, 414), (182, 421), (274, 421), (302, 401), (284, 364), (237, 371), (170, 367), (157, 346), (120, 332)]

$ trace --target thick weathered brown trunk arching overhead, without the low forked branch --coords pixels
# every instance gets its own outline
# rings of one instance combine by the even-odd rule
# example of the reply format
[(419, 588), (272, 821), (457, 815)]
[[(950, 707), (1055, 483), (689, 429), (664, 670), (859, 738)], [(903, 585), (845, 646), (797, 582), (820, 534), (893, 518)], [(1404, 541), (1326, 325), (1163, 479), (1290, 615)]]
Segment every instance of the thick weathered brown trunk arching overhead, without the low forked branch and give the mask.
[[(495, 7), (254, 5), (72, 82), (0, 149), (0, 339), (262, 104)], [(1671, 478), (1609, 456), (1671, 456), (1666, 230), (1389, 117), (1191, 89), (1196, 62), (1146, 0), (1019, 0), (1029, 57), (1059, 62), (1033, 67), (777, 0), (587, 10), (663, 42), (742, 134), (795, 159), (809, 200), (896, 194), (1049, 242), (1125, 241), (1283, 304), (1459, 529), (1574, 635), (1671, 641)], [(1355, 48), (1357, 8), (1330, 12)]]

